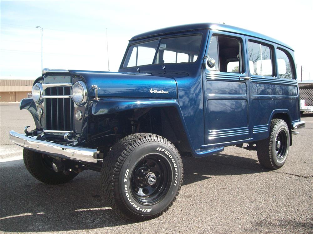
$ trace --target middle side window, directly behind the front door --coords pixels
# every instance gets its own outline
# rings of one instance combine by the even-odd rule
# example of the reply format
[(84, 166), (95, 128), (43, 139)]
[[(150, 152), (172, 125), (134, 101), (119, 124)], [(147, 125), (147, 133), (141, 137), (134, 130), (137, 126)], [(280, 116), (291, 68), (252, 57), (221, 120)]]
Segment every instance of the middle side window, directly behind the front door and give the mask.
[(269, 46), (248, 41), (248, 52), (251, 74), (273, 76), (272, 51)]

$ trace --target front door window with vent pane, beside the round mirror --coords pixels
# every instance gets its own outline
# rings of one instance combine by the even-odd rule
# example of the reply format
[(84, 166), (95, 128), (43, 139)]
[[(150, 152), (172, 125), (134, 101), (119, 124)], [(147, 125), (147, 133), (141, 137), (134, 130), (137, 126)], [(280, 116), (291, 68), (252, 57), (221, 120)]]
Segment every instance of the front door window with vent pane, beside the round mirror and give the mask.
[(241, 63), (241, 41), (233, 37), (211, 37), (208, 57), (215, 61), (215, 66), (208, 68), (213, 71), (240, 73), (243, 71)]

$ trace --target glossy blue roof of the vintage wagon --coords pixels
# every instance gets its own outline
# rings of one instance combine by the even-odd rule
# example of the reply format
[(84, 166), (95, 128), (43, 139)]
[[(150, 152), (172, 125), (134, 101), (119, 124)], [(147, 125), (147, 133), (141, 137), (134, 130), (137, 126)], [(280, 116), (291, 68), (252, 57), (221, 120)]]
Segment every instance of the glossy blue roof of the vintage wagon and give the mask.
[(276, 44), (279, 44), (281, 46), (285, 46), (285, 47), (289, 48), (290, 50), (293, 50), (290, 46), (286, 45), (285, 43), (278, 41), (274, 38), (265, 36), (263, 34), (253, 32), (250, 30), (246, 30), (243, 28), (239, 28), (239, 27), (230, 26), (227, 24), (216, 24), (216, 23), (196, 23), (196, 24), (185, 24), (185, 25), (161, 28), (161, 29), (150, 31), (150, 32), (144, 32), (144, 33), (138, 34), (138, 35), (132, 37), (130, 41), (143, 39), (143, 38), (147, 38), (147, 37), (161, 36), (161, 35), (165, 35), (168, 33), (195, 31), (195, 30), (199, 30), (199, 29), (213, 29), (213, 30), (219, 30), (219, 31), (224, 31), (224, 32), (233, 32), (233, 33), (238, 33), (238, 34), (247, 35), (247, 36), (251, 36), (251, 37), (256, 37), (256, 38), (260, 38), (260, 39), (263, 39), (266, 41), (272, 41)]

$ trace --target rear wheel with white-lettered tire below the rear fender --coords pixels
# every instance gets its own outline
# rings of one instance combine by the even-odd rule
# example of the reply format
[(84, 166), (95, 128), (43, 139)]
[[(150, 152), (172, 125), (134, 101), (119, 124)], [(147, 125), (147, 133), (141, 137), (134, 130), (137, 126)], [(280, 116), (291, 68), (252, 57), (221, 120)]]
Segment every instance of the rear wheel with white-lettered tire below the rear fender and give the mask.
[(260, 164), (268, 169), (281, 168), (288, 156), (289, 143), (289, 129), (286, 122), (282, 119), (273, 119), (269, 138), (257, 143)]

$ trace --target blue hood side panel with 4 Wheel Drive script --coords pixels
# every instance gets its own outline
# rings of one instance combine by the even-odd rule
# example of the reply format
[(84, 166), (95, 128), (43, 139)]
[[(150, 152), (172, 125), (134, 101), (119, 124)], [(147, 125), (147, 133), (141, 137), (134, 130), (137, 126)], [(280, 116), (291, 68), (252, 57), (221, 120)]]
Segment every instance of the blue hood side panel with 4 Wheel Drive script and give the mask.
[(86, 81), (88, 96), (95, 96), (92, 85), (97, 85), (98, 97), (177, 98), (174, 78), (101, 71), (69, 71)]

